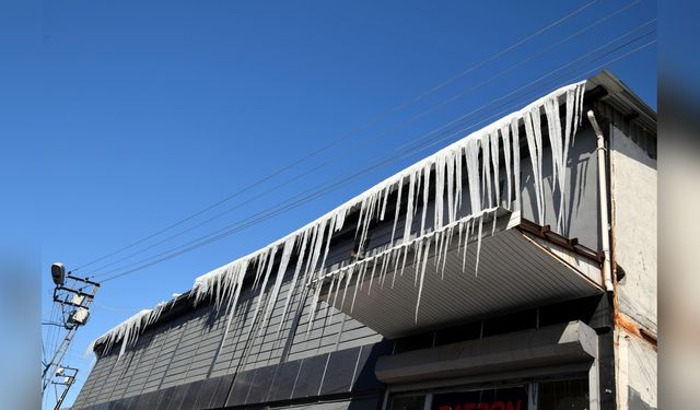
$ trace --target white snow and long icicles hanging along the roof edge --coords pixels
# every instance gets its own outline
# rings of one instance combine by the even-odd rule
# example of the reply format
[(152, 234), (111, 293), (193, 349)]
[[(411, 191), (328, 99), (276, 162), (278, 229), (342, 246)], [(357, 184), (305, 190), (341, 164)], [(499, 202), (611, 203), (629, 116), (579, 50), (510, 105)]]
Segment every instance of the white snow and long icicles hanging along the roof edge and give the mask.
[[(346, 216), (358, 208), (359, 220), (355, 235), (359, 238), (361, 249), (368, 239), (371, 223), (385, 221), (387, 218), (393, 218), (394, 226), (390, 247), (408, 249), (409, 243), (415, 238), (411, 235), (420, 237), (428, 232), (428, 207), (422, 207), (420, 215), (417, 213), (419, 204), (427, 203), (431, 194), (434, 195), (435, 201), (434, 212), (431, 215), (432, 230), (434, 232), (444, 231), (446, 226), (456, 226), (460, 233), (465, 229), (467, 231), (478, 229), (478, 236), (480, 237), (485, 212), (503, 204), (503, 202), (506, 208), (520, 211), (521, 149), (518, 128), (521, 124), (524, 125), (527, 151), (533, 165), (537, 211), (536, 222), (542, 223), (546, 198), (544, 198), (545, 191), (542, 187), (544, 144), (540, 116), (544, 113), (547, 122), (547, 138), (549, 139), (552, 159), (553, 189), (565, 192), (565, 164), (569, 147), (573, 143), (576, 130), (581, 125), (584, 91), (585, 81), (563, 86), (528, 104), (526, 107), (466, 136), (265, 248), (200, 276), (195, 280), (190, 297), (194, 297), (195, 304), (210, 298), (217, 309), (225, 307), (229, 315), (226, 330), (223, 336), (223, 341), (225, 341), (242, 292), (243, 280), (246, 272), (252, 269), (254, 271), (254, 290), (265, 292), (268, 290), (268, 283), (271, 283), (267, 304), (264, 305), (264, 298), (258, 297), (253, 308), (253, 323), (260, 320), (259, 332), (261, 332), (266, 328), (272, 308), (278, 301), (282, 279), (289, 267), (290, 259), (293, 254), (296, 254), (299, 258), (291, 278), (291, 289), (295, 289), (295, 286), (313, 288), (310, 311), (312, 315), (310, 324), (312, 324), (322, 288), (320, 285), (314, 285), (314, 283), (317, 279), (328, 273), (326, 258), (330, 247), (330, 239), (334, 233), (343, 227)], [(565, 108), (563, 127), (559, 115), (560, 101), (563, 102)], [(505, 161), (503, 164), (505, 198), (501, 198), (501, 189), (499, 187), (501, 149)], [(464, 178), (463, 171), (466, 172), (466, 178)], [(431, 173), (435, 175), (434, 186), (430, 184)], [(464, 186), (465, 179), (466, 187)], [(389, 195), (395, 190), (398, 191), (397, 197), (394, 199), (396, 201), (395, 212), (389, 216), (386, 214), (387, 202), (389, 201)], [(407, 190), (406, 204), (401, 203), (404, 190)], [(463, 195), (463, 191), (468, 195)], [(471, 210), (471, 214), (474, 216), (480, 215), (480, 218), (468, 219), (466, 225), (463, 223), (455, 225), (455, 222), (459, 221), (457, 212), (465, 206), (462, 203), (463, 198), (466, 198), (465, 201), (468, 199), (468, 209)], [(563, 195), (560, 195), (560, 201), (563, 204)], [(559, 210), (563, 210), (563, 206), (560, 206)], [(557, 224), (561, 229), (568, 222), (567, 215), (563, 212), (557, 212)], [(418, 232), (412, 232), (411, 230), (415, 218), (420, 219)], [(402, 232), (396, 232), (399, 219), (405, 219)], [(445, 235), (445, 237), (452, 237), (452, 235)], [(462, 236), (459, 237), (462, 238)], [(446, 248), (442, 241), (443, 238), (438, 241), (435, 246), (441, 248), (444, 246)], [(423, 268), (427, 258), (421, 260), (421, 256), (430, 251), (431, 243), (433, 242), (419, 242), (420, 246), (413, 245), (415, 262), (422, 262)], [(477, 247), (480, 248), (480, 241)], [(407, 250), (404, 251), (402, 257), (400, 257), (400, 251), (394, 251), (392, 255), (395, 267), (399, 266), (399, 259), (401, 259), (401, 266), (406, 263)], [(390, 258), (384, 259), (387, 260), (382, 261), (385, 265), (381, 267), (382, 270), (386, 269), (390, 263), (388, 261)], [(275, 269), (276, 260), (278, 261), (277, 269)], [(475, 269), (478, 271), (478, 258)], [(419, 286), (422, 286), (424, 269), (421, 269), (421, 272), (420, 283), (418, 283), (418, 277), (416, 278), (416, 285)], [(332, 286), (339, 286), (340, 281), (340, 279), (334, 281), (331, 289)], [(422, 288), (419, 289), (422, 290)], [(289, 314), (292, 293), (288, 292), (280, 324), (284, 323), (284, 316)], [(417, 301), (417, 317), (419, 303), (420, 292)], [(153, 311), (142, 311), (105, 333), (96, 342), (105, 342), (105, 352), (108, 352), (114, 343), (122, 341), (120, 350), (120, 354), (122, 354), (126, 347), (133, 345), (139, 333), (158, 319), (161, 311), (161, 307), (156, 307)]]

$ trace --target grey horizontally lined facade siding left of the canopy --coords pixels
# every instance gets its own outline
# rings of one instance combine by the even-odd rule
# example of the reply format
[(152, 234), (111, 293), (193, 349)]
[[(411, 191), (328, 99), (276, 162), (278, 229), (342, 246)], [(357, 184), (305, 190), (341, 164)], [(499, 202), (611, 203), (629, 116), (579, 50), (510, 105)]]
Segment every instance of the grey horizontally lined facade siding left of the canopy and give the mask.
[[(282, 330), (278, 333), (283, 303), (289, 291), (289, 282), (283, 283), (269, 326), (262, 335), (250, 339), (247, 349), (244, 343), (246, 335), (250, 331), (253, 309), (259, 298), (255, 295), (256, 292), (250, 290), (242, 295), (241, 305), (221, 351), (219, 348), (228, 316), (223, 309), (217, 313), (212, 306), (205, 306), (147, 331), (135, 349), (127, 350), (118, 361), (118, 349), (97, 361), (74, 407), (161, 390), (201, 380), (208, 375), (218, 377), (276, 364), (282, 359), (282, 351), (290, 337), (290, 361), (370, 344), (382, 339), (376, 332), (336, 309), (330, 309), (327, 317), (319, 317), (320, 314), (317, 314), (313, 330), (306, 335), (308, 301), (305, 301), (298, 329), (290, 336), (293, 313), (301, 302), (299, 290), (291, 301), (291, 314), (287, 315)], [(267, 293), (262, 296), (261, 309), (266, 306)], [(325, 304), (322, 304), (319, 312), (323, 313), (324, 308)], [(256, 332), (258, 329), (259, 326), (256, 326), (253, 331)], [(247, 352), (247, 360), (245, 365), (240, 367), (244, 352)]]

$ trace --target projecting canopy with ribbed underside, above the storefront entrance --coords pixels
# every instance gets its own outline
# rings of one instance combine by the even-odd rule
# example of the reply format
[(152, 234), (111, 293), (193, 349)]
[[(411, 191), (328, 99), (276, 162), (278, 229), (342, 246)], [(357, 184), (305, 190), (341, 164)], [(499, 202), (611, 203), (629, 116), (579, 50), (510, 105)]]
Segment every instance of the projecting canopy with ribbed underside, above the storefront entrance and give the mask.
[[(475, 224), (472, 221), (471, 226)], [(445, 235), (444, 232), (413, 239), (435, 243), (428, 256), (418, 309), (422, 266), (420, 260), (413, 262), (411, 246), (407, 246), (406, 266), (400, 266), (402, 258), (398, 263), (390, 259), (384, 276), (372, 278), (370, 266), (382, 266), (382, 259), (389, 258), (392, 249), (358, 261), (355, 267), (330, 272), (324, 280), (320, 297), (393, 339), (604, 292), (599, 262), (590, 256), (595, 253), (588, 251), (586, 256), (567, 246), (561, 237), (563, 241), (558, 245), (548, 241), (547, 235), (533, 234), (536, 231), (533, 224), (522, 221), (520, 213), (504, 209), (485, 213), (480, 246), (475, 231), (466, 241), (466, 259), (456, 230), (448, 232), (453, 237), (442, 253), (434, 250), (440, 248), (436, 236)], [(442, 259), (439, 266), (438, 259)], [(360, 265), (368, 268), (362, 270)], [(350, 268), (364, 274), (355, 273), (348, 281)], [(336, 286), (330, 291), (334, 277)]]

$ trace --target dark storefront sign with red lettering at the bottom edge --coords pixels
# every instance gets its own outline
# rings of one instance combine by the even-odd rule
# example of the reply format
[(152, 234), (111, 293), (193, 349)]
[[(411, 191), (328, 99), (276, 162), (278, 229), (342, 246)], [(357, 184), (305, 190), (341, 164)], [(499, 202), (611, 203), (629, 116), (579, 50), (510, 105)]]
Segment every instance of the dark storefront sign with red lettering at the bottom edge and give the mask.
[(435, 394), (432, 410), (527, 410), (527, 389), (510, 387)]

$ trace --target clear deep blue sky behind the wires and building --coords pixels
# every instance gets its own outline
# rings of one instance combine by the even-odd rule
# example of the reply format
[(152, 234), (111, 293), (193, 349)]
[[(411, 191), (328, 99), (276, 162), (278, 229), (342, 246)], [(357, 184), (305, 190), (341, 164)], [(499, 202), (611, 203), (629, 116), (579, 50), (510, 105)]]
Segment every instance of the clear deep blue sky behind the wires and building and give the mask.
[[(50, 313), (51, 262), (62, 261), (74, 268), (167, 226), (585, 3), (44, 2), (34, 10), (42, 19), (32, 27), (40, 35), (9, 49), (18, 58), (5, 66), (7, 75), (1, 80), (4, 95), (0, 97), (0, 131), (3, 145), (9, 145), (5, 152), (23, 153), (4, 161), (4, 190), (32, 199), (23, 206), (0, 207), (5, 208), (5, 214), (30, 211), (34, 215), (19, 221), (22, 230), (30, 232), (24, 233), (27, 242), (32, 242), (32, 234), (39, 238), (43, 317)], [(234, 207), (329, 162), (322, 171), (284, 183), (269, 195), (114, 267), (182, 245), (304, 189), (389, 157), (397, 147), (656, 16), (656, 4), (641, 1), (489, 81), (629, 3), (599, 1), (588, 7), (217, 210)], [(2, 37), (26, 31), (11, 14), (3, 20), (8, 24), (0, 28)], [(557, 85), (579, 80), (581, 73), (654, 37), (639, 39), (598, 61), (571, 66), (562, 71), (567, 75), (509, 107), (522, 106)], [(0, 44), (10, 47), (9, 43)], [(33, 68), (28, 69), (26, 62)], [(656, 107), (655, 45), (608, 68)], [(30, 81), (14, 82), (15, 77)], [(485, 81), (489, 82), (464, 92)], [(415, 119), (459, 92), (464, 92), (460, 97)], [(27, 107), (32, 108), (31, 115)], [(487, 117), (475, 116), (467, 125)], [(139, 309), (187, 291), (197, 276), (283, 236), (455, 139), (457, 136), (374, 169), (264, 223), (105, 283), (91, 321), (73, 343), (69, 363), (81, 368), (81, 383), (73, 387), (67, 402), (72, 402), (88, 376), (90, 360), (82, 354), (91, 340)], [(15, 226), (14, 231), (20, 230)], [(79, 272), (92, 274), (92, 269), (103, 262)]]

